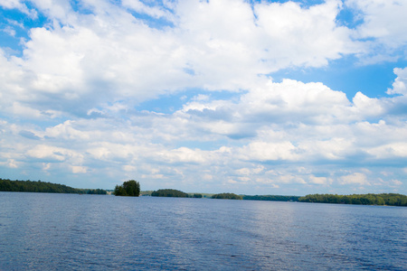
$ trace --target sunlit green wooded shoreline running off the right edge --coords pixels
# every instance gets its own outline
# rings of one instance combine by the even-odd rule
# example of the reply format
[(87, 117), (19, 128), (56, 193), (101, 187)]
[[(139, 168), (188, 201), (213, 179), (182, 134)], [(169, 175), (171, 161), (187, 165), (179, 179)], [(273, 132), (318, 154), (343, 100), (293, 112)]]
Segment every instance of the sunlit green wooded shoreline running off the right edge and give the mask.
[(364, 205), (392, 205), (407, 206), (407, 196), (397, 193), (382, 194), (311, 194), (298, 199), (300, 202), (364, 204)]

